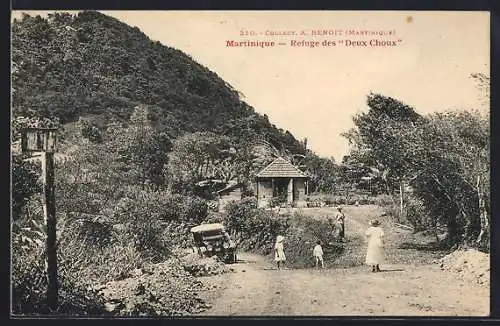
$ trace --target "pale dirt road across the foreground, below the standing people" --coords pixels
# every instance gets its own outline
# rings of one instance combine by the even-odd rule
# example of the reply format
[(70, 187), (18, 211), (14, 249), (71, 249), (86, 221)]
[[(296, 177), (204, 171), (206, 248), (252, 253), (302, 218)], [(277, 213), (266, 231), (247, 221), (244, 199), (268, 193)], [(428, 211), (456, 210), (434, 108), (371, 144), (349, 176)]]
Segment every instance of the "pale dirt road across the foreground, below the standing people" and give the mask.
[[(349, 219), (348, 219), (349, 221)], [(364, 221), (346, 229), (362, 232)], [(354, 230), (354, 231), (353, 231)], [(355, 234), (351, 233), (351, 236)], [(358, 234), (359, 239), (359, 234)], [(363, 244), (348, 253), (354, 267), (276, 270), (266, 257), (241, 253), (234, 273), (205, 278), (214, 284), (204, 298), (207, 316), (487, 316), (489, 289), (459, 280), (437, 264), (389, 264), (371, 273), (359, 264)], [(392, 247), (396, 248), (396, 247)], [(396, 249), (389, 247), (392, 257)], [(388, 256), (391, 257), (388, 252)], [(398, 255), (404, 254), (400, 251)], [(394, 261), (394, 260), (393, 260)], [(397, 261), (397, 260), (396, 260)]]

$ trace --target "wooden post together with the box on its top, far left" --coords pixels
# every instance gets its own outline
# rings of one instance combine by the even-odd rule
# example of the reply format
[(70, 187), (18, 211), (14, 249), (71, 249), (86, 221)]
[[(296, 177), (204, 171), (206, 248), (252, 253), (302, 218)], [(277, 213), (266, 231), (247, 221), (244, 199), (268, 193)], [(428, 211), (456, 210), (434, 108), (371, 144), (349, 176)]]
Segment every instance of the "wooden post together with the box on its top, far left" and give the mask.
[(47, 259), (47, 302), (51, 311), (58, 307), (56, 203), (54, 187), (54, 152), (57, 128), (26, 128), (21, 132), (23, 153), (42, 153), (43, 213), (45, 217)]

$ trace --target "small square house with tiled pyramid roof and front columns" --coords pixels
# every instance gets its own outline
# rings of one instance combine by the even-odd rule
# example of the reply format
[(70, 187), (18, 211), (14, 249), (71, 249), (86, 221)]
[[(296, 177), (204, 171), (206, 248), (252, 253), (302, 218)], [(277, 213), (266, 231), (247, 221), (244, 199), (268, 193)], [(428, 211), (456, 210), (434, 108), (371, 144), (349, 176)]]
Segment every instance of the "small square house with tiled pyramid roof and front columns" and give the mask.
[(292, 207), (306, 207), (308, 179), (306, 173), (278, 157), (255, 177), (258, 206), (285, 204)]

